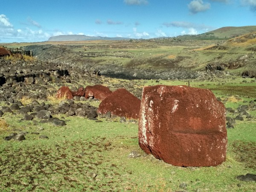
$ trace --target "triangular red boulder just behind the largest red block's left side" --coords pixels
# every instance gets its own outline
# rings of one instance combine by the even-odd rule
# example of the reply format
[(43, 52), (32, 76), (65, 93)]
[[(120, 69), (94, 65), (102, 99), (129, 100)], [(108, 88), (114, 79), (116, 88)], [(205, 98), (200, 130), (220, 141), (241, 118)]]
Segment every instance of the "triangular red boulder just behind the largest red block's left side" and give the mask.
[(140, 99), (126, 89), (117, 89), (104, 99), (98, 108), (98, 113), (125, 116), (126, 118), (139, 119)]

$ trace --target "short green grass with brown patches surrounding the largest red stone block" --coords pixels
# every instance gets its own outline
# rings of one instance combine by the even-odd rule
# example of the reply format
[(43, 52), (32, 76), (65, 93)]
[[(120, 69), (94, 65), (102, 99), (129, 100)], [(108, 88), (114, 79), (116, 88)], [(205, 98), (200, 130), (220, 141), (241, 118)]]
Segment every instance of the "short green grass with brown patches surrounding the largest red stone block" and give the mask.
[[(193, 87), (211, 89), (226, 107), (237, 108), (256, 98), (255, 83), (243, 79), (190, 82)], [(120, 83), (118, 79), (110, 80)], [(187, 81), (134, 80), (137, 87)], [(239, 95), (239, 99), (232, 99)], [(98, 105), (98, 103), (94, 103)], [(249, 111), (256, 116), (255, 111)], [(227, 116), (231, 114), (227, 113)], [(252, 192), (255, 182), (243, 182), (238, 175), (256, 174), (256, 119), (237, 121), (228, 129), (227, 160), (215, 167), (177, 167), (146, 155), (138, 145), (137, 123), (119, 119), (95, 122), (80, 117), (64, 118), (67, 125), (20, 121), (23, 116), (5, 113), (0, 119), (0, 191), (198, 191)], [(3, 126), (5, 125), (5, 126)], [(42, 129), (43, 128), (43, 129)], [(16, 130), (16, 131), (15, 131)], [(22, 142), (5, 141), (12, 132), (28, 132)], [(39, 134), (32, 134), (38, 132)], [(40, 139), (46, 135), (48, 139)], [(128, 158), (131, 151), (141, 154)]]

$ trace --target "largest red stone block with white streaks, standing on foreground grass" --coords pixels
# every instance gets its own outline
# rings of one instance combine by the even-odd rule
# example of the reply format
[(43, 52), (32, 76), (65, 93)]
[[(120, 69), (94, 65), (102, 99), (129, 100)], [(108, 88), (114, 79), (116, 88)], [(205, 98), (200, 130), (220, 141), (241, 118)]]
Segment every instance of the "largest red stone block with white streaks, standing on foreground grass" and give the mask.
[(175, 166), (217, 166), (226, 160), (225, 107), (207, 89), (143, 88), (139, 144)]

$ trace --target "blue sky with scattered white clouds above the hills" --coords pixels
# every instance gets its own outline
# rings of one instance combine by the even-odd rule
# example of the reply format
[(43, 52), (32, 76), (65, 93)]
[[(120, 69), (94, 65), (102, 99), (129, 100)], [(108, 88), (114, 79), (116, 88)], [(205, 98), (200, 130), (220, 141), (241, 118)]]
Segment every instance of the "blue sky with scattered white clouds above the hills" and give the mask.
[(251, 25), (256, 0), (11, 0), (0, 8), (0, 43), (71, 34), (174, 37)]

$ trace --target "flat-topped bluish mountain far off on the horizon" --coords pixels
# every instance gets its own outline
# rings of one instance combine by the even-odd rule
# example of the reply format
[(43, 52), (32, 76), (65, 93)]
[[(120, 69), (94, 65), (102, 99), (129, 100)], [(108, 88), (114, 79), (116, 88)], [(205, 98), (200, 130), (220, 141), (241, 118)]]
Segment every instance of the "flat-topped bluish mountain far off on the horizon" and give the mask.
[(48, 39), (48, 41), (90, 41), (90, 40), (130, 40), (131, 38), (122, 38), (122, 37), (94, 37), (94, 36), (86, 36), (86, 35), (58, 35), (53, 36)]

